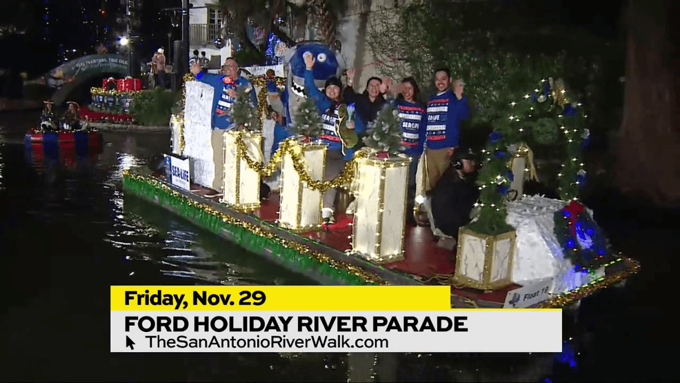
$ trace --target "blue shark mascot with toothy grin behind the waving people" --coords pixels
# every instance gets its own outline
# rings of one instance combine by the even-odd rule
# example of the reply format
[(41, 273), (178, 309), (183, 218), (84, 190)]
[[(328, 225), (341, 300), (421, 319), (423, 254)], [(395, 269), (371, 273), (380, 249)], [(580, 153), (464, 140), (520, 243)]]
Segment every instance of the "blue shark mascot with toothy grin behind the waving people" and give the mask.
[(326, 80), (330, 77), (340, 78), (345, 62), (340, 52), (333, 50), (327, 43), (320, 41), (301, 41), (288, 48), (283, 55), (283, 64), (288, 72), (286, 90), (283, 91), (283, 108), (286, 115), (286, 124), (294, 124), (297, 108), (308, 97), (305, 94), (305, 60), (303, 55), (310, 52), (314, 56), (314, 84), (323, 91)]

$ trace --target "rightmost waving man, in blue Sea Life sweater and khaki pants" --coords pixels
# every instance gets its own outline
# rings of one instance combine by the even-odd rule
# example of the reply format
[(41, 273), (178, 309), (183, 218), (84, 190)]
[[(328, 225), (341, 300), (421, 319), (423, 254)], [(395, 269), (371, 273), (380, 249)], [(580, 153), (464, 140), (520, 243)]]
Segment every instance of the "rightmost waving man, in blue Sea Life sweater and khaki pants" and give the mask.
[(459, 146), (459, 122), (467, 119), (468, 98), (463, 95), (462, 80), (454, 83), (451, 90), (451, 75), (448, 69), (441, 68), (434, 72), (434, 85), (437, 94), (428, 100), (426, 161), (428, 172), (428, 190), (437, 185), (437, 181), (451, 162), (451, 155)]

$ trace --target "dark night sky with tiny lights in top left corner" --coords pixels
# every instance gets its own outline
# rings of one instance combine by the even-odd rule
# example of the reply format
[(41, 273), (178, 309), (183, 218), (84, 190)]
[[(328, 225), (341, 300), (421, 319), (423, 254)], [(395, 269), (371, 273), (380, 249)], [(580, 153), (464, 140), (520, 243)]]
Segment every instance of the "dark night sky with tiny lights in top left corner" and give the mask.
[[(100, 42), (109, 52), (116, 52), (117, 40), (126, 30), (117, 23), (125, 10), (124, 3), (125, 0), (26, 1), (23, 13), (30, 20), (30, 28), (25, 35), (0, 40), (3, 52), (14, 52), (0, 55), (0, 67), (20, 67), (32, 78), (64, 59), (96, 53)], [(161, 12), (162, 8), (181, 6), (181, 0), (141, 0), (141, 4), (142, 41), (137, 50), (143, 59), (150, 60), (160, 46), (168, 50), (168, 32), (172, 32), (172, 40), (181, 39), (181, 26), (172, 28), (170, 14)]]

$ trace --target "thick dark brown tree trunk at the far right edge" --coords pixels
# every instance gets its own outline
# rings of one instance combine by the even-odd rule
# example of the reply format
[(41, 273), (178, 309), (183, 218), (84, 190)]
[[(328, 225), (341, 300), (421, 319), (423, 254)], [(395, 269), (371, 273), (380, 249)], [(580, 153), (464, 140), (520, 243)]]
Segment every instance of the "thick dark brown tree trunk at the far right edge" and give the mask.
[(626, 90), (614, 175), (624, 193), (680, 201), (675, 1), (630, 0)]

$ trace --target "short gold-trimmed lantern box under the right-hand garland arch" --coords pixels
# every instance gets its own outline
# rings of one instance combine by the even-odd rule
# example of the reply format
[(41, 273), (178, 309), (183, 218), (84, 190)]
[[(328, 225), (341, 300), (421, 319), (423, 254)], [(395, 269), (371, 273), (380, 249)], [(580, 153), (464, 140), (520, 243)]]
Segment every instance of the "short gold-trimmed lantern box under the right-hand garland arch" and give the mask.
[(480, 290), (496, 290), (512, 284), (516, 238), (514, 230), (485, 235), (461, 227), (454, 275), (456, 282)]

